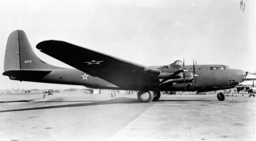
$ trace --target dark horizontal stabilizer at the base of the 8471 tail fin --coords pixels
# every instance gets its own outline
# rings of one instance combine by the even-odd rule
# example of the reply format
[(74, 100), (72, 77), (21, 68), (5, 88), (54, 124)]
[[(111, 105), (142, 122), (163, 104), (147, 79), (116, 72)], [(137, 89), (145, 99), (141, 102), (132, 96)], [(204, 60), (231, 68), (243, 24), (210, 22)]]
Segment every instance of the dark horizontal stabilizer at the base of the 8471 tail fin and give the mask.
[(5, 71), (3, 75), (9, 76), (12, 80), (32, 81), (38, 80), (49, 73), (51, 73), (50, 70), (17, 69)]

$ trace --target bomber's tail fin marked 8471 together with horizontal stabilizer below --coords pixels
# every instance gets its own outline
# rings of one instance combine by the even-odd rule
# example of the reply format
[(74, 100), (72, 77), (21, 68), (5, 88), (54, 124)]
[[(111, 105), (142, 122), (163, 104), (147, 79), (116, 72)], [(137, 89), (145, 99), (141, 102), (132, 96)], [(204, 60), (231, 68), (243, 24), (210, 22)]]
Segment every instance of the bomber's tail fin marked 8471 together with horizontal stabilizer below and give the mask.
[(7, 40), (4, 56), (4, 73), (13, 80), (32, 80), (43, 77), (53, 69), (62, 69), (49, 65), (39, 59), (22, 30), (13, 31)]

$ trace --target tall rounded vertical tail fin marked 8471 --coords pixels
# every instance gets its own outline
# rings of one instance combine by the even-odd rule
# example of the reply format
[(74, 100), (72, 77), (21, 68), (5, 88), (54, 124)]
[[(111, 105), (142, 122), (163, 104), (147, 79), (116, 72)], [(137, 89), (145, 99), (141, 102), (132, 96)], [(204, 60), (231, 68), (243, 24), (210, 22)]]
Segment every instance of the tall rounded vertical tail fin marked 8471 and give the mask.
[(7, 41), (4, 71), (17, 69), (57, 69), (39, 59), (31, 48), (26, 33), (13, 31)]

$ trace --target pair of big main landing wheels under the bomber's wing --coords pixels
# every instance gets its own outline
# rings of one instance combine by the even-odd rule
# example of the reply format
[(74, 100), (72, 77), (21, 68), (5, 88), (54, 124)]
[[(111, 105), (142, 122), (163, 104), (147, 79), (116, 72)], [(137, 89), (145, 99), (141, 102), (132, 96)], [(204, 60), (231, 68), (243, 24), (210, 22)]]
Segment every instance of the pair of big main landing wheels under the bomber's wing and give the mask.
[(160, 91), (146, 91), (146, 90), (140, 90), (138, 92), (138, 99), (140, 102), (151, 102), (152, 100), (158, 100), (161, 96)]

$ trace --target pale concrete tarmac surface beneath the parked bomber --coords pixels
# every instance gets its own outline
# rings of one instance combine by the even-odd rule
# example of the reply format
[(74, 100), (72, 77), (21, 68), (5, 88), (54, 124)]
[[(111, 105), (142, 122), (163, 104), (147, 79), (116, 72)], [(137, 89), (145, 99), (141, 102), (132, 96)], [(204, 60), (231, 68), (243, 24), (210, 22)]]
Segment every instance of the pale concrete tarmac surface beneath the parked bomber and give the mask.
[(0, 94), (0, 140), (255, 141), (255, 98), (248, 95), (161, 95), (151, 103), (118, 94), (42, 97)]

